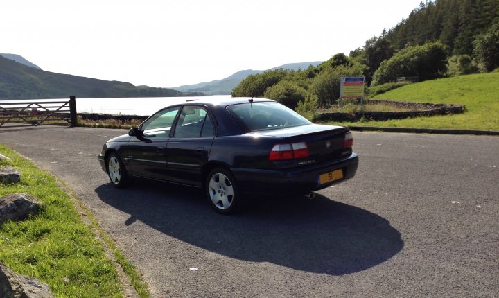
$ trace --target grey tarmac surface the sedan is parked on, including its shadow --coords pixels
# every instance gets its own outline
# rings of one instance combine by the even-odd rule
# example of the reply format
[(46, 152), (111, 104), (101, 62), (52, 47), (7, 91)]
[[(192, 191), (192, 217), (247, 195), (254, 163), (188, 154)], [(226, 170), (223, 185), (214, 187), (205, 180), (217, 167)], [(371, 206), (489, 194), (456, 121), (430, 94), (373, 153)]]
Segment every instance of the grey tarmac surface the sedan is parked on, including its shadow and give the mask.
[(154, 297), (499, 297), (499, 137), (354, 132), (349, 182), (220, 216), (195, 189), (112, 188), (96, 155), (125, 132), (0, 128), (0, 143), (64, 179)]

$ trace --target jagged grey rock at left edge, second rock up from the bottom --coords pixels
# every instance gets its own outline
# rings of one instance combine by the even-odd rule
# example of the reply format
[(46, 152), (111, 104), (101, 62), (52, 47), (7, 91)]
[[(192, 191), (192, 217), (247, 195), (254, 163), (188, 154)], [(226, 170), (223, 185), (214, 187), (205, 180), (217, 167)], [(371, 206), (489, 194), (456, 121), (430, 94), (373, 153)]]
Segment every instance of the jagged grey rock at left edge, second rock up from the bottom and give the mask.
[(33, 195), (10, 193), (0, 198), (0, 222), (24, 220), (30, 214), (40, 211), (41, 204)]

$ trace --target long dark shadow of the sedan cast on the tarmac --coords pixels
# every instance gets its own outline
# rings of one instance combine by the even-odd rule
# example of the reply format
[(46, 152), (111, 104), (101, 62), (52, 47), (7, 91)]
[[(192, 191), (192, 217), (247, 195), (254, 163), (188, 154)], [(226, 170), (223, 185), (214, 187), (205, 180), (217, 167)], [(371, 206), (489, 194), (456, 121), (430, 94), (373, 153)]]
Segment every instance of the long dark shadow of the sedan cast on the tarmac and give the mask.
[(100, 200), (191, 245), (243, 261), (342, 275), (396, 255), (401, 234), (374, 213), (317, 195), (315, 200), (259, 199), (233, 216), (213, 211), (202, 191), (153, 182), (99, 186)]

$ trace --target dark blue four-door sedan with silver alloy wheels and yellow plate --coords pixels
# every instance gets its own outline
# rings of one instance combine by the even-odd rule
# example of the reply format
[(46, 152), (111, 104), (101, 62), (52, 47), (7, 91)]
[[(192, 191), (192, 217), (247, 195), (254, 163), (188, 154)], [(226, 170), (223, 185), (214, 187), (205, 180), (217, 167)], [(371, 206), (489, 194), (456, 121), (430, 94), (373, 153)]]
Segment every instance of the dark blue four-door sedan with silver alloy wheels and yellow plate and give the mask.
[(351, 132), (314, 124), (264, 98), (202, 98), (171, 105), (98, 160), (112, 184), (132, 177), (202, 187), (216, 211), (232, 213), (254, 195), (306, 195), (355, 175)]

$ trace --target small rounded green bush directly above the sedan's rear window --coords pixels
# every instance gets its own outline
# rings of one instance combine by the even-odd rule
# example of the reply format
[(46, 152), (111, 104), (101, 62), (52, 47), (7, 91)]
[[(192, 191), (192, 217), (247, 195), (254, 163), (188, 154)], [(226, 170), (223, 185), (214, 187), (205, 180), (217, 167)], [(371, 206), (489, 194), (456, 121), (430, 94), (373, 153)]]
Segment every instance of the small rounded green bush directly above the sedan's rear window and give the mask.
[(306, 98), (306, 90), (299, 87), (295, 82), (281, 80), (276, 85), (267, 88), (263, 97), (276, 100), (286, 107), (295, 109), (298, 103)]

